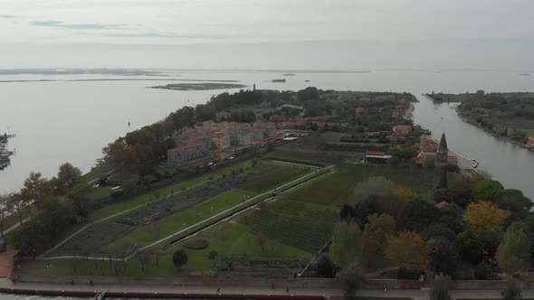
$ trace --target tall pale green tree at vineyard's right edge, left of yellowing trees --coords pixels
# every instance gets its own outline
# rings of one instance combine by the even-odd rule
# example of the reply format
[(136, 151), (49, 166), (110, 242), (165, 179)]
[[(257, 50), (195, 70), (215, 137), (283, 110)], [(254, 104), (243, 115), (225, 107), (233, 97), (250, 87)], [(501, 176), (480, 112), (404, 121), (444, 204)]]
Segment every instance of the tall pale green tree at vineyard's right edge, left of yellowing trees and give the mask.
[(349, 266), (361, 258), (362, 236), (358, 224), (338, 222), (334, 227), (330, 258), (338, 266)]

